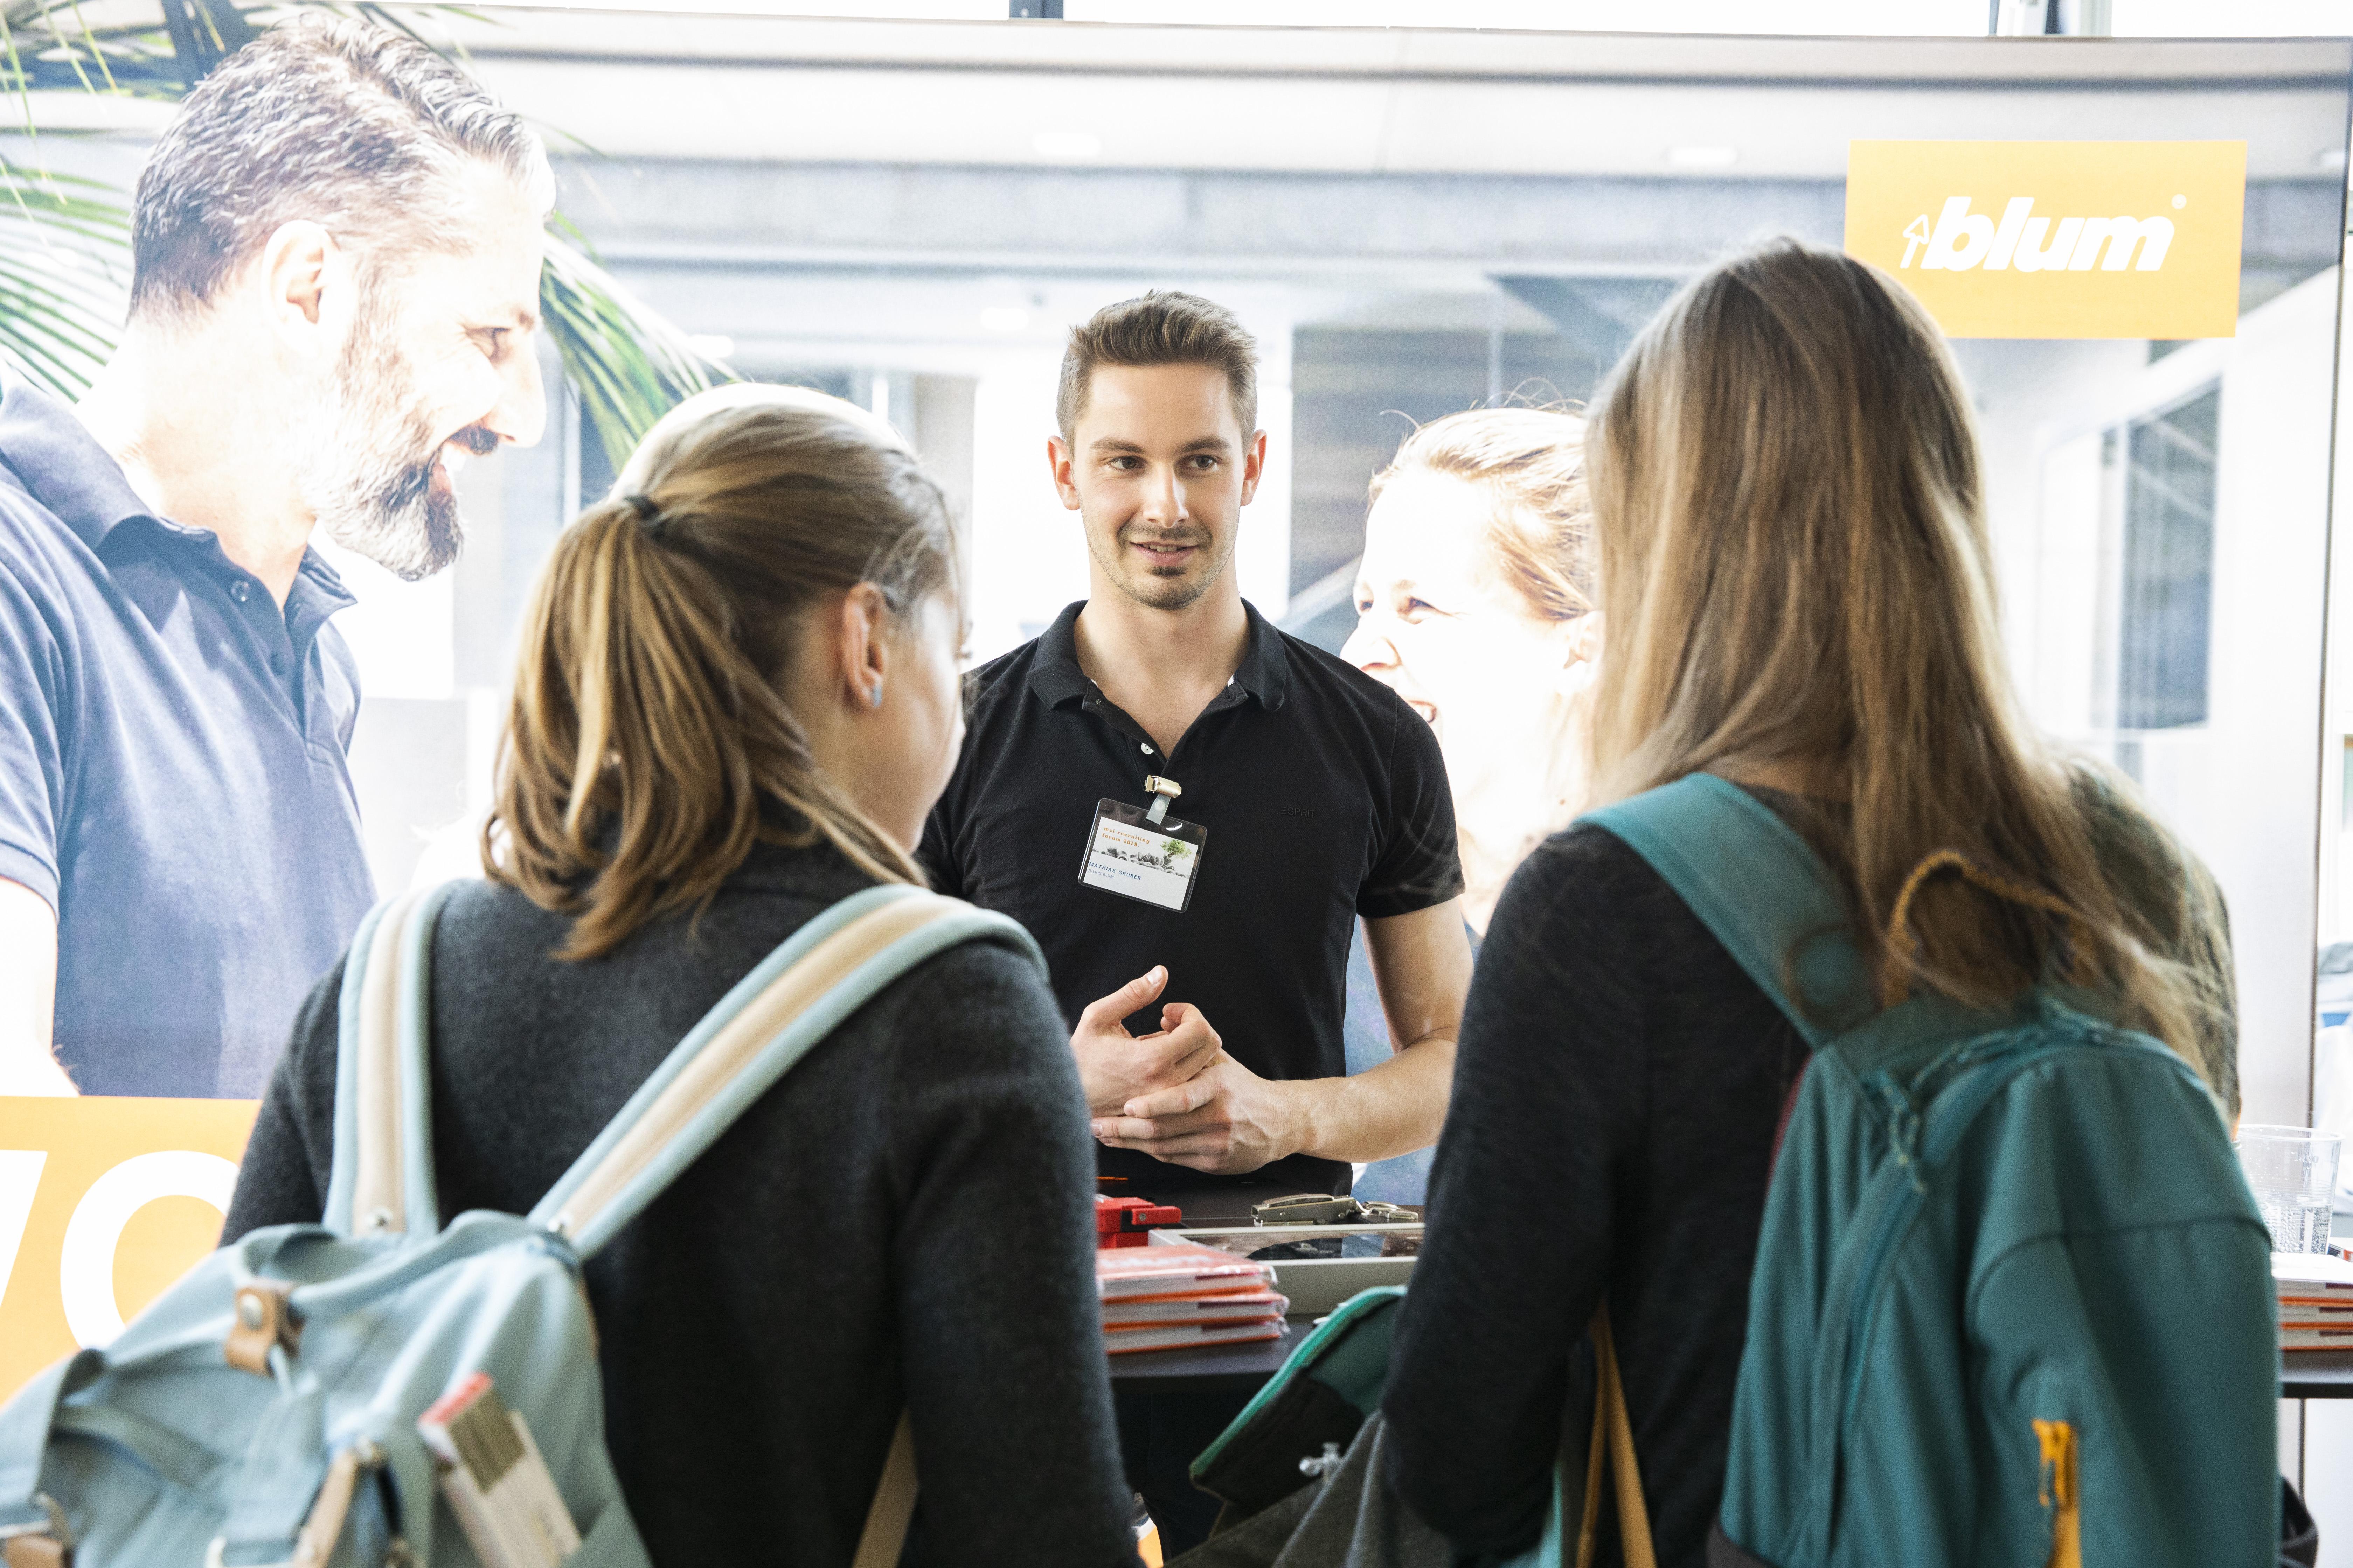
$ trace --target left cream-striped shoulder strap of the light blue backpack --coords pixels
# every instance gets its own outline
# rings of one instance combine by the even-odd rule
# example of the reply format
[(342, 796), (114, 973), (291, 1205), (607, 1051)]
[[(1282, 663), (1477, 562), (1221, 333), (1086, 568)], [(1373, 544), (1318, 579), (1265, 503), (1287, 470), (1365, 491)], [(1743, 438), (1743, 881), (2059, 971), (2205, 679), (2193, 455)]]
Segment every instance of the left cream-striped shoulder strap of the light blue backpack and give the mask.
[(456, 884), (376, 905), (344, 959), (334, 1053), (334, 1171), (325, 1225), (339, 1234), (440, 1229), (433, 1187), (433, 929)]

